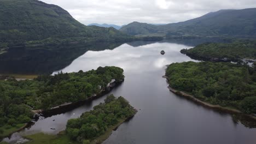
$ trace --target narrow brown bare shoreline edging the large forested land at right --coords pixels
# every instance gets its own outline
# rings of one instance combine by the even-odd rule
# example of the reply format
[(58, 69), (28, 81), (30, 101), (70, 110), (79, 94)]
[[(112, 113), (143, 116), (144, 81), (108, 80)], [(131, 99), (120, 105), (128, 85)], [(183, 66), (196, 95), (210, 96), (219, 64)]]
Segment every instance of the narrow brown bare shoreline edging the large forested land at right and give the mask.
[[(162, 76), (163, 78), (166, 79), (166, 82), (168, 83), (167, 81), (167, 76)], [(169, 84), (169, 83), (168, 83)], [(240, 110), (237, 110), (237, 109), (231, 109), (231, 108), (228, 108), (228, 107), (223, 107), (223, 106), (220, 106), (220, 105), (213, 105), (213, 104), (210, 104), (210, 103), (207, 103), (205, 101), (202, 101), (200, 99), (197, 99), (195, 98), (193, 95), (190, 95), (190, 94), (187, 94), (185, 92), (181, 92), (181, 91), (178, 91), (170, 86), (167, 87), (169, 89), (169, 91), (171, 91), (172, 93), (174, 94), (177, 94), (179, 96), (182, 96), (183, 98), (186, 98), (186, 99), (189, 99), (191, 101), (193, 101), (194, 103), (196, 104), (200, 104), (201, 106), (205, 106), (205, 107), (208, 107), (210, 109), (213, 109), (213, 110), (219, 110), (219, 111), (223, 111), (223, 112), (227, 112), (227, 113), (233, 113), (233, 114), (240, 114), (240, 115), (243, 115), (245, 117), (248, 117), (248, 118), (251, 118), (253, 119), (254, 121), (256, 121), (256, 116), (253, 116), (253, 115), (248, 115), (246, 113), (243, 113), (241, 112)]]

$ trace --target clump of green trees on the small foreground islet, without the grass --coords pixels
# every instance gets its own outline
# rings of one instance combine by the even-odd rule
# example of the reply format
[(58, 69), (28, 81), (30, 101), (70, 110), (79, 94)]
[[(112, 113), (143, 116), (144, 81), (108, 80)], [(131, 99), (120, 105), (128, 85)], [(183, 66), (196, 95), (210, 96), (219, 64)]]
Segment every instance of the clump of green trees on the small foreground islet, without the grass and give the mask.
[(135, 115), (137, 111), (123, 97), (109, 95), (104, 103), (94, 106), (94, 109), (85, 112), (80, 118), (69, 119), (66, 133), (71, 140), (79, 143), (101, 143), (98, 139), (107, 131), (112, 131), (112, 127), (124, 122), (125, 119)]

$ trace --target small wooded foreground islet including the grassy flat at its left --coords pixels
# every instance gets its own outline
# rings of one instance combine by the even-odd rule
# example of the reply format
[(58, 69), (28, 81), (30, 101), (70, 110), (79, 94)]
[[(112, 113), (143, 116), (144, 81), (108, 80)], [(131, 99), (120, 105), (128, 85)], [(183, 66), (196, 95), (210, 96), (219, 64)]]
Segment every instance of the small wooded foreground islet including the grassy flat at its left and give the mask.
[(82, 116), (69, 119), (65, 131), (59, 135), (34, 134), (25, 138), (33, 143), (102, 143), (112, 133), (113, 129), (132, 118), (137, 113), (123, 97), (109, 95), (104, 103), (94, 106), (89, 112)]

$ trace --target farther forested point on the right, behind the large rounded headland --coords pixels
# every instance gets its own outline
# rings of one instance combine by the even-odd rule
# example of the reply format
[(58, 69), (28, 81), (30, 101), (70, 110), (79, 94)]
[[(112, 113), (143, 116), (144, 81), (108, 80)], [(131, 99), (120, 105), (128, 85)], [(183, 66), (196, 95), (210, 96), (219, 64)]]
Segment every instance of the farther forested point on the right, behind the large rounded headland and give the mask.
[(197, 45), (192, 49), (183, 49), (181, 52), (190, 57), (209, 60), (256, 59), (256, 41), (239, 40), (233, 43), (207, 43)]

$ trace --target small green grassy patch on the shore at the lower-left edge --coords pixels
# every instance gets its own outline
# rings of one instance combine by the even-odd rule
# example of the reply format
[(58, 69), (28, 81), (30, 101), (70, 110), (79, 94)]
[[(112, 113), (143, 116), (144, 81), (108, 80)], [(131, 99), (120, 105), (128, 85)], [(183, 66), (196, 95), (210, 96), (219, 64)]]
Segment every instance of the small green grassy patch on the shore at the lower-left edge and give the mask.
[(15, 127), (10, 126), (10, 125), (4, 125), (3, 127), (0, 127), (0, 129), (3, 130), (3, 133), (0, 134), (0, 137), (6, 137), (9, 136), (12, 133), (15, 133), (18, 131), (20, 128), (24, 127), (26, 123), (21, 123), (21, 124), (16, 124)]

